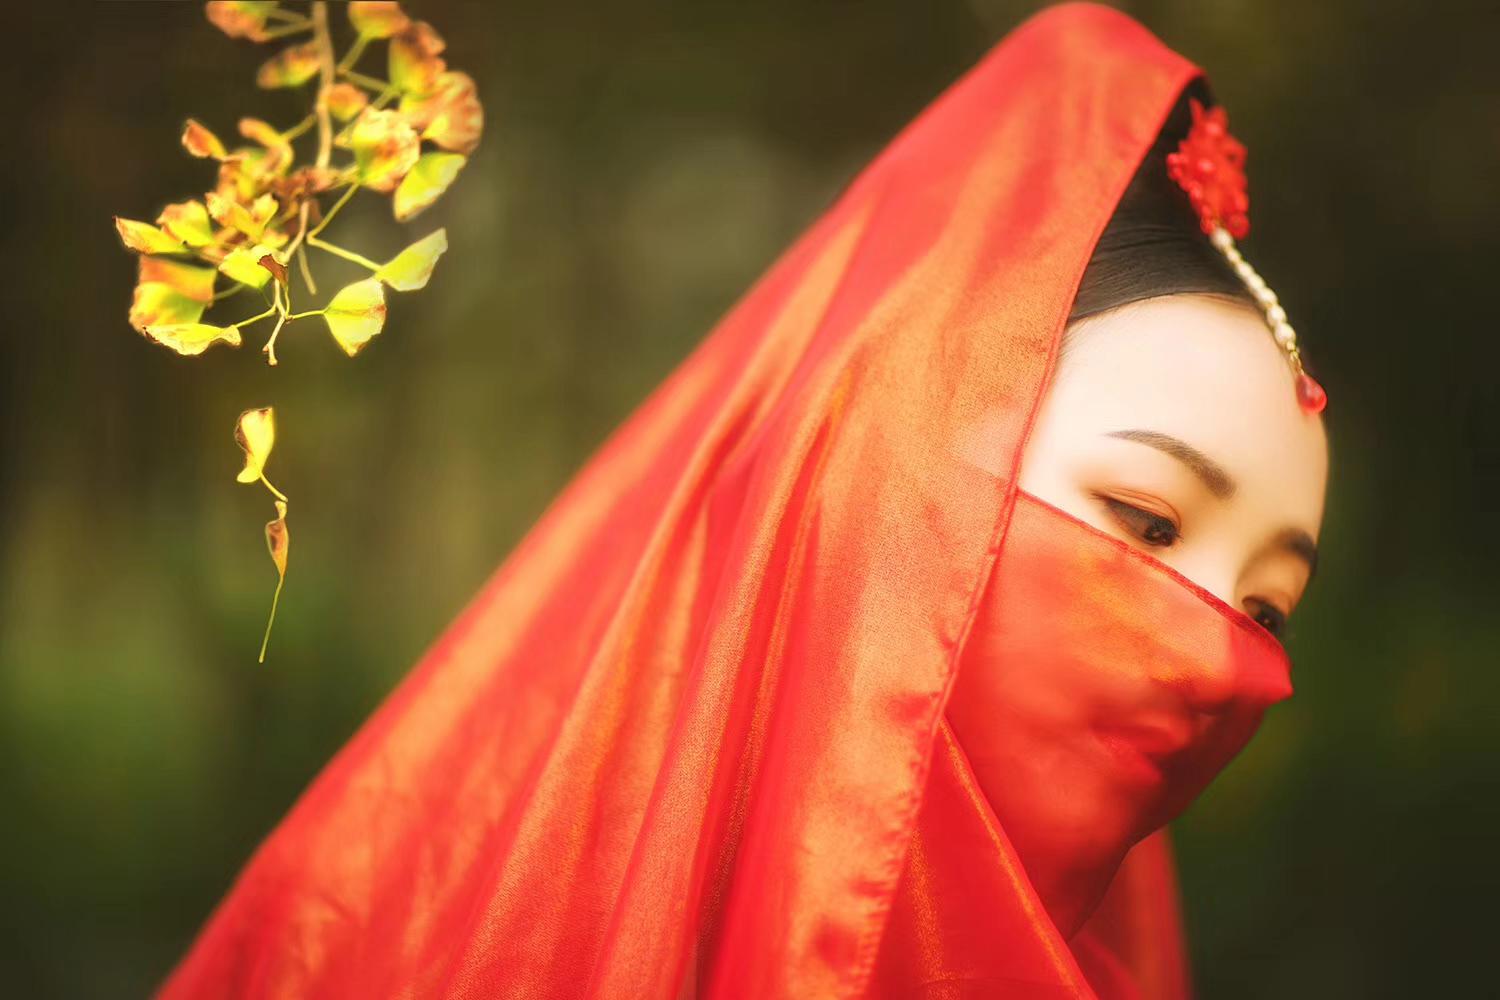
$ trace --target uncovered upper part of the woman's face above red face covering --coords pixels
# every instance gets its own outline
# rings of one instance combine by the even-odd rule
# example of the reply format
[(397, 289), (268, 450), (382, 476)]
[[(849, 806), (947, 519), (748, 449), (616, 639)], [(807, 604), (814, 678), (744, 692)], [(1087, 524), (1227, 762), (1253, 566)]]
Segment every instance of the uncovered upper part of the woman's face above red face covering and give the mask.
[(1068, 333), (1020, 487), (1280, 633), (1312, 570), (1328, 439), (1248, 306), (1148, 298)]

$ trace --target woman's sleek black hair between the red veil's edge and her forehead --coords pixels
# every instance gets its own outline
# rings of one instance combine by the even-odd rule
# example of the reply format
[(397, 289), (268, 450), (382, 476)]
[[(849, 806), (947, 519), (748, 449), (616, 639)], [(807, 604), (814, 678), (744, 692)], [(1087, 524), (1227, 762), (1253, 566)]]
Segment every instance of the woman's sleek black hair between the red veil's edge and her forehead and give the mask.
[(1070, 324), (1126, 303), (1182, 292), (1221, 295), (1258, 309), (1203, 234), (1186, 192), (1167, 175), (1167, 153), (1178, 148), (1192, 124), (1190, 97), (1204, 108), (1214, 105), (1202, 76), (1178, 97), (1094, 247), (1068, 313)]

